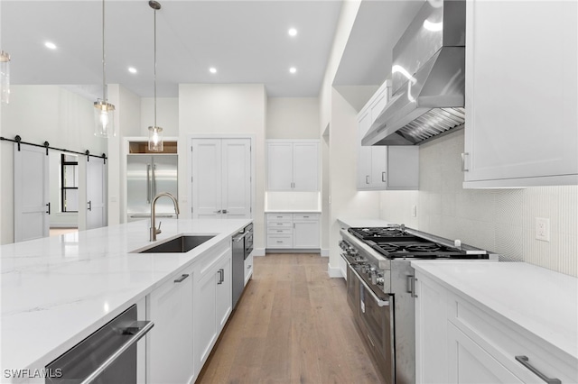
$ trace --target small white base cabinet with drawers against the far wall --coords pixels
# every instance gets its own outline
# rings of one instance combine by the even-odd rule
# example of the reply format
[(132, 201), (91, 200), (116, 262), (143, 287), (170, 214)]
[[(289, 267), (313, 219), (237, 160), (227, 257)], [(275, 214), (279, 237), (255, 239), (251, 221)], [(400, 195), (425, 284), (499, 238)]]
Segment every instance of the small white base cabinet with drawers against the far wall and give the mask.
[(266, 214), (267, 248), (320, 248), (320, 214)]

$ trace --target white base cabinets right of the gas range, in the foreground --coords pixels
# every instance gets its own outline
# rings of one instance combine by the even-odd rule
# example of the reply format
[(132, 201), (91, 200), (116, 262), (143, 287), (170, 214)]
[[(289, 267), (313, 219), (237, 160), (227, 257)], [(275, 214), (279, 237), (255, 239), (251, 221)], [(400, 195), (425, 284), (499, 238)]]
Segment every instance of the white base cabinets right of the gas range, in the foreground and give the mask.
[[(415, 277), (417, 382), (543, 382), (524, 366), (522, 356), (547, 378), (578, 379), (575, 356), (419, 270)], [(507, 287), (501, 280), (493, 284)]]

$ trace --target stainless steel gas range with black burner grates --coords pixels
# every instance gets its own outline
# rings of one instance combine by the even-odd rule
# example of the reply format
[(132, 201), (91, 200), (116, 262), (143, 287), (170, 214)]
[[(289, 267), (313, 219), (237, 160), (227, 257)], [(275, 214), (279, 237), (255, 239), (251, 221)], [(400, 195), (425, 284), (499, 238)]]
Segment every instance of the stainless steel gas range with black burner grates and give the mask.
[(415, 260), (487, 260), (498, 255), (403, 224), (341, 229), (348, 303), (387, 383), (415, 383)]

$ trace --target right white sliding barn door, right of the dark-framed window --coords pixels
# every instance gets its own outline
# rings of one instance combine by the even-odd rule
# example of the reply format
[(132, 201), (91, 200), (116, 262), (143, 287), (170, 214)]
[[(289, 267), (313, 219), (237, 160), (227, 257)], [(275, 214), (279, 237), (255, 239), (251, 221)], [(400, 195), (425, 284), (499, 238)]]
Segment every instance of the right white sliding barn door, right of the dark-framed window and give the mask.
[(87, 161), (87, 229), (107, 225), (107, 178), (104, 159)]

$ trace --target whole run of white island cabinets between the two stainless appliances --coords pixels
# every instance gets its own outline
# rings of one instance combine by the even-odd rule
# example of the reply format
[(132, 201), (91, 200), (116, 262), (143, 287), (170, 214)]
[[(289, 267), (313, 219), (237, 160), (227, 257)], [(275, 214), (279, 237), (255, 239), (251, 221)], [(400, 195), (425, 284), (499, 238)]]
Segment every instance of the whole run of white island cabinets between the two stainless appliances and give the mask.
[(232, 310), (231, 239), (146, 297), (146, 382), (193, 383)]

